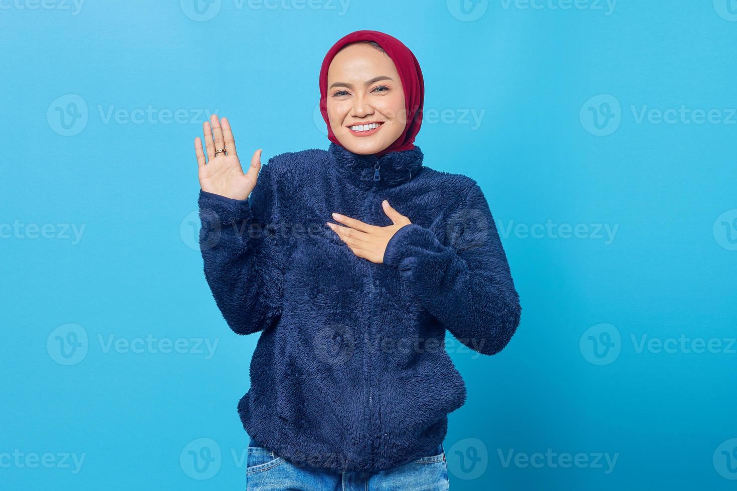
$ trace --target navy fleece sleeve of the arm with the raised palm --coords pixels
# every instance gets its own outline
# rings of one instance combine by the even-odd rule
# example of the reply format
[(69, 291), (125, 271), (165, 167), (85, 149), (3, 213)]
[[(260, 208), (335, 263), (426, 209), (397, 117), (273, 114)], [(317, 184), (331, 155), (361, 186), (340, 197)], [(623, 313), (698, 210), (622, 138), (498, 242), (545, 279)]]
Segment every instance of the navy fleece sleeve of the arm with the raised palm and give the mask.
[(283, 261), (273, 230), (274, 183), (262, 166), (247, 199), (200, 189), (200, 252), (217, 307), (238, 334), (262, 331), (282, 312)]

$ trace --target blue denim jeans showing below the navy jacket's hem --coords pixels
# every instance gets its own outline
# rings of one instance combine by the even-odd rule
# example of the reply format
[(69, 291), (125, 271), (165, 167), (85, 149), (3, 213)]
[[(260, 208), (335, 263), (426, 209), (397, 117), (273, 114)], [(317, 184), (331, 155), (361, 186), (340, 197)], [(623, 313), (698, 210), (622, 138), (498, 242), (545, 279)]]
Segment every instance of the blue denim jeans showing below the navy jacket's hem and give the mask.
[(447, 491), (443, 445), (435, 455), (377, 473), (338, 472), (291, 464), (253, 437), (248, 439), (246, 491)]

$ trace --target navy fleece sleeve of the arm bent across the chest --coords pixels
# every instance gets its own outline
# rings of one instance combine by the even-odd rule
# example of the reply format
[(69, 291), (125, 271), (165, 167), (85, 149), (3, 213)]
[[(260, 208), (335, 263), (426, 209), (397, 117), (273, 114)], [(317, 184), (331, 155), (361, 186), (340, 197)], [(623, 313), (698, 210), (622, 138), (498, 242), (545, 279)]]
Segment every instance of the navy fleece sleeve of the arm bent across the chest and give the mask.
[(410, 224), (389, 239), (384, 264), (468, 347), (494, 355), (520, 324), (520, 300), (497, 227), (475, 180), (444, 220), (448, 245)]

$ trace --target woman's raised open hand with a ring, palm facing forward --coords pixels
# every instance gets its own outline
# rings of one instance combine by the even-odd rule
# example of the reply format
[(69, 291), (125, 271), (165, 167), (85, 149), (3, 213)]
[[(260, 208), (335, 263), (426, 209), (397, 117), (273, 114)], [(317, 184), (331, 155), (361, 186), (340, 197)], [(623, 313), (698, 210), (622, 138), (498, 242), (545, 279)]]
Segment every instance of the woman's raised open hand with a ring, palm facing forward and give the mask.
[[(251, 166), (244, 174), (235, 151), (235, 140), (228, 119), (218, 120), (217, 115), (213, 114), (210, 121), (205, 121), (202, 127), (205, 150), (202, 148), (200, 137), (195, 138), (200, 188), (228, 198), (246, 199), (256, 187), (256, 179), (261, 169), (262, 149), (254, 152)], [(226, 152), (219, 152), (222, 149)]]

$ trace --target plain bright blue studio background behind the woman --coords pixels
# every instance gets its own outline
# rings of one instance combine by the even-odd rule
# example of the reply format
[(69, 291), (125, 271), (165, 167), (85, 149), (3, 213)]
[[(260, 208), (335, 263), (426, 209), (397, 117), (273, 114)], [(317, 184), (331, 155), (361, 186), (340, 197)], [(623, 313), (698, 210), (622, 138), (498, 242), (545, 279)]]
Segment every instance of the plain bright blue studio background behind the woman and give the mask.
[[(0, 5), (4, 489), (245, 487), (257, 335), (203, 277), (192, 140), (217, 112), (264, 162), (326, 148), (319, 67), (357, 29), (416, 54), (416, 144), (481, 184), (523, 305), (497, 356), (448, 334), (451, 489), (737, 486), (737, 2)], [(147, 336), (184, 353), (109, 345)]]

